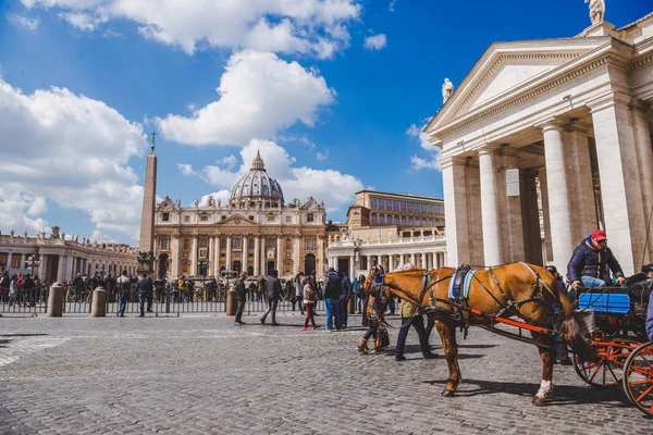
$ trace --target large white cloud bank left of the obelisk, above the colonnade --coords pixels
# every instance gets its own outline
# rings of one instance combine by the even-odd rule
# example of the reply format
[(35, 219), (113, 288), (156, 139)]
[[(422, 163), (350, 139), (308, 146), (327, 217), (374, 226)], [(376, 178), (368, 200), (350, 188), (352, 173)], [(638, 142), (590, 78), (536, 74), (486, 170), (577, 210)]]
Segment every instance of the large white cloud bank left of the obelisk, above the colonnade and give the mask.
[(85, 212), (97, 229), (137, 237), (143, 187), (127, 162), (145, 148), (140, 124), (65, 88), (25, 95), (0, 79), (0, 199), (23, 201), (2, 229), (16, 220), (42, 229), (38, 215), (52, 201)]

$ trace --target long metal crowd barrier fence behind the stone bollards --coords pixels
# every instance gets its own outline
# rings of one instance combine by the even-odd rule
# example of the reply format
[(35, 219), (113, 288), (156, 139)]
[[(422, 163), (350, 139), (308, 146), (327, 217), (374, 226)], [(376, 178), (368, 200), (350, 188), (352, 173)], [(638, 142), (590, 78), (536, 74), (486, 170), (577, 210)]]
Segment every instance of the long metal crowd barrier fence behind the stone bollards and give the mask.
[[(63, 284), (63, 315), (89, 315), (93, 304), (93, 291), (89, 288), (77, 289), (71, 285)], [(113, 288), (107, 288), (107, 315), (119, 314), (118, 294)], [(9, 295), (0, 295), (0, 314), (2, 315), (46, 315), (48, 312), (48, 299), (50, 287), (41, 285), (30, 289), (19, 289), (16, 295), (10, 299)], [(282, 298), (276, 307), (276, 312), (299, 311), (298, 303), (293, 304), (292, 299)], [(146, 299), (145, 309), (147, 315), (182, 315), (182, 314), (211, 314), (224, 313), (226, 311), (226, 290), (215, 291), (188, 291), (172, 288), (157, 288), (151, 298)], [(318, 301), (317, 311), (324, 310), (324, 302)], [(268, 310), (268, 301), (264, 295), (247, 294), (245, 314), (262, 313)], [(131, 288), (125, 303), (125, 314), (140, 314), (140, 303), (135, 287)]]

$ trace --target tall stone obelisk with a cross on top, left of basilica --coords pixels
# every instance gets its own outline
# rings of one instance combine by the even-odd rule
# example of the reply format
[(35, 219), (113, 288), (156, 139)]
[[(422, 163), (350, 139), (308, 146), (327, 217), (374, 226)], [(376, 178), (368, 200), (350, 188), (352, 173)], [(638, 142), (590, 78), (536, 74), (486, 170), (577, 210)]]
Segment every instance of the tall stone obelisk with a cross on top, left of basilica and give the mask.
[(143, 211), (140, 213), (140, 239), (138, 240), (138, 273), (150, 275), (155, 271), (155, 204), (157, 200), (157, 156), (152, 132), (151, 152), (145, 166), (145, 188), (143, 191)]

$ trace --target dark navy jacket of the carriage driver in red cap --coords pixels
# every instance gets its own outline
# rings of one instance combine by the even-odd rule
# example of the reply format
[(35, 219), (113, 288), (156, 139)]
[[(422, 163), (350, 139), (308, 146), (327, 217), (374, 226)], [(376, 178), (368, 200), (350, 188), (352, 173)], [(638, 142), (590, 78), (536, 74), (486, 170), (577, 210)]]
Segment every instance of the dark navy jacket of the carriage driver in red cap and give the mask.
[(580, 281), (581, 276), (592, 276), (609, 283), (609, 273), (607, 266), (615, 276), (624, 276), (621, 265), (613, 256), (609, 248), (603, 250), (595, 249), (592, 246), (592, 236), (584, 239), (575, 250), (567, 265), (569, 281)]

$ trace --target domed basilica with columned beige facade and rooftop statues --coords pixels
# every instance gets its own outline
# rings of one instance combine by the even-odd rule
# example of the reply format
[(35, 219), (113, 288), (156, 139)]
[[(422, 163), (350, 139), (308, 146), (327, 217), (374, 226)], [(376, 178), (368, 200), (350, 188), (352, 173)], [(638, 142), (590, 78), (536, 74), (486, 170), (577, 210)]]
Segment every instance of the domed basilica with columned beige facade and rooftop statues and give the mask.
[(312, 197), (285, 203), (283, 190), (267, 171), (260, 153), (232, 189), (229, 203), (213, 197), (182, 207), (168, 196), (156, 206), (155, 269), (158, 276), (249, 276), (279, 271), (291, 277), (328, 265), (325, 211)]

